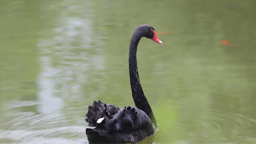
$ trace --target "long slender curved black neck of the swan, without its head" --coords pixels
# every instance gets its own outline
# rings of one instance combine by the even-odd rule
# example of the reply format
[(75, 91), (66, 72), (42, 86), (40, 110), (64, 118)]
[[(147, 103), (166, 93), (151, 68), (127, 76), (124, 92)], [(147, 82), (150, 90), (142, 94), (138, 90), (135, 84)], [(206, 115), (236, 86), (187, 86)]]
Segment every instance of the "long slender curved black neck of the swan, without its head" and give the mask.
[(142, 36), (140, 35), (139, 31), (136, 30), (132, 35), (132, 39), (130, 42), (129, 72), (130, 72), (130, 83), (131, 83), (131, 89), (132, 89), (132, 98), (134, 100), (135, 106), (138, 107), (140, 110), (143, 110), (148, 115), (148, 117), (153, 122), (153, 124), (156, 126), (156, 119), (154, 117), (154, 114), (152, 112), (150, 105), (148, 104), (148, 100), (144, 95), (144, 92), (140, 84), (139, 74), (138, 74), (136, 53), (137, 53), (137, 46), (141, 38)]

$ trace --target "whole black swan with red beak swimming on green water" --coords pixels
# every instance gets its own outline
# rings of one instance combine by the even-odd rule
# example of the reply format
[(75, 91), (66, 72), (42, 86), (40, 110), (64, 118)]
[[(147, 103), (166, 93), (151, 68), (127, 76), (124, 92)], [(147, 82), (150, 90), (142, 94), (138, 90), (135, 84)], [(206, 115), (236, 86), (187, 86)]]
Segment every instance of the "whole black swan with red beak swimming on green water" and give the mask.
[(118, 108), (100, 100), (89, 106), (86, 114), (86, 135), (89, 143), (136, 143), (156, 132), (156, 119), (140, 85), (137, 68), (137, 46), (142, 37), (162, 44), (150, 25), (141, 25), (132, 35), (129, 50), (129, 72), (135, 106)]

